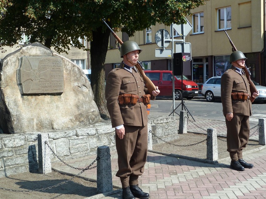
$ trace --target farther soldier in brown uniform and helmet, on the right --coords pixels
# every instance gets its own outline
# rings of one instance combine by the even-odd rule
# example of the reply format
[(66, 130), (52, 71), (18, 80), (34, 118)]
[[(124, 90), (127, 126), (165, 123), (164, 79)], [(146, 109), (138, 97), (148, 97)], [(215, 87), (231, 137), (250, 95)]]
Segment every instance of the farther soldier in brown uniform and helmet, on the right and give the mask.
[(259, 95), (250, 93), (249, 81), (242, 70), (247, 58), (241, 51), (234, 51), (230, 55), (232, 68), (225, 71), (221, 78), (221, 100), (227, 127), (227, 151), (230, 154), (230, 167), (244, 171), (252, 168), (253, 164), (243, 160), (242, 149), (249, 140), (249, 116), (251, 102)]

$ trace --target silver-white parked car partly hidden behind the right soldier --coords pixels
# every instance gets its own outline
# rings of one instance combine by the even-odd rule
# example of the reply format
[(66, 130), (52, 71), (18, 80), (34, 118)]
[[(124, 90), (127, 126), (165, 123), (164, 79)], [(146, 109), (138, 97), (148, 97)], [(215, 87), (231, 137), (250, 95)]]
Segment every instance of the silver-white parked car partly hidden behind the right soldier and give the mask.
[[(259, 91), (259, 96), (254, 102), (266, 102), (266, 87), (260, 86), (259, 83), (252, 80), (256, 89)], [(221, 99), (221, 77), (209, 78), (203, 85), (201, 95), (208, 102), (213, 102), (215, 99)]]

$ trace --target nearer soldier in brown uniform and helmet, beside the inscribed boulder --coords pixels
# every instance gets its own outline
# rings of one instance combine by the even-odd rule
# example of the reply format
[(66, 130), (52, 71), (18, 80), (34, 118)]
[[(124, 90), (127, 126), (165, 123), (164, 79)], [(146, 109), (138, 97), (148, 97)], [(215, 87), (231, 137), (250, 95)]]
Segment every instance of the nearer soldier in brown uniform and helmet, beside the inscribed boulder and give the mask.
[[(147, 199), (148, 193), (138, 187), (138, 177), (144, 171), (147, 158), (148, 116), (146, 102), (150, 95), (140, 73), (135, 68), (142, 50), (134, 41), (121, 45), (120, 66), (106, 78), (106, 103), (112, 127), (116, 127), (116, 150), (118, 154), (117, 177), (122, 183), (123, 199)], [(158, 87), (152, 92), (154, 98), (160, 93)]]

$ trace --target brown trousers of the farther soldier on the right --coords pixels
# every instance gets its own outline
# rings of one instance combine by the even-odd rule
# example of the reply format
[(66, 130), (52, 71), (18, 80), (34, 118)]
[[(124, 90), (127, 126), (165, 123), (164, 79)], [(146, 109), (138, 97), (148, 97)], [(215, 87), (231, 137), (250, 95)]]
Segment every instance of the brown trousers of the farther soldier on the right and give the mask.
[(227, 151), (232, 161), (243, 159), (242, 149), (249, 141), (249, 116), (234, 115), (231, 121), (226, 122)]

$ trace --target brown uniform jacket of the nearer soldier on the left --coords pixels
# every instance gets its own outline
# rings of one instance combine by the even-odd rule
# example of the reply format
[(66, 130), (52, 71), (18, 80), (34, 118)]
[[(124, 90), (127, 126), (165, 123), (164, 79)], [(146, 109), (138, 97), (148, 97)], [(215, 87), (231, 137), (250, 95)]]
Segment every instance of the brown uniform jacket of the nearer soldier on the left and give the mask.
[(112, 127), (122, 124), (128, 126), (146, 126), (148, 116), (146, 105), (143, 103), (123, 104), (117, 102), (118, 96), (122, 94), (134, 94), (142, 97), (148, 94), (144, 87), (144, 80), (140, 73), (132, 69), (132, 73), (123, 69), (123, 61), (116, 69), (111, 70), (106, 78), (106, 105), (111, 116)]

